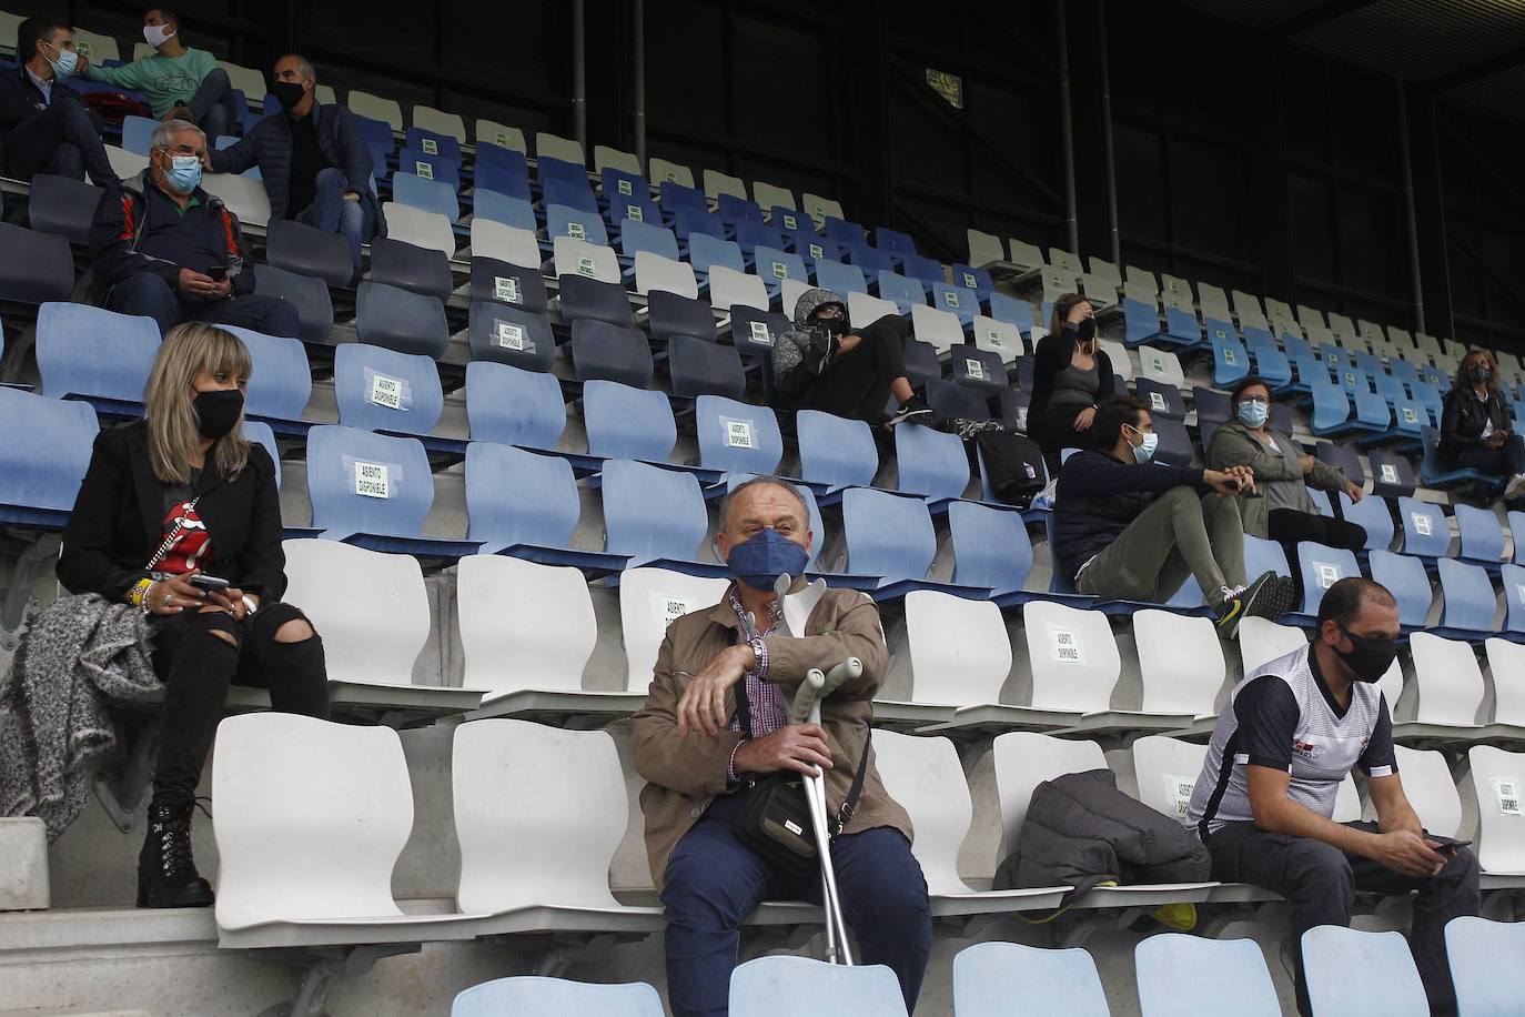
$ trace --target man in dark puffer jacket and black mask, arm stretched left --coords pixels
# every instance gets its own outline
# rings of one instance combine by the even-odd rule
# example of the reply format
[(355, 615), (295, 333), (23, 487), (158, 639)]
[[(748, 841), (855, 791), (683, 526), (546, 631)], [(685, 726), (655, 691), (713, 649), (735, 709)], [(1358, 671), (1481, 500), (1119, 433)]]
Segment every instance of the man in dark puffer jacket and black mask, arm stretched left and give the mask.
[(317, 72), (305, 56), (276, 61), (271, 91), (281, 110), (241, 142), (212, 152), (214, 172), (259, 166), (271, 220), (296, 220), (325, 233), (342, 233), (360, 278), (360, 245), (386, 236), (381, 204), (371, 191), (371, 148), (348, 107), (317, 101)]

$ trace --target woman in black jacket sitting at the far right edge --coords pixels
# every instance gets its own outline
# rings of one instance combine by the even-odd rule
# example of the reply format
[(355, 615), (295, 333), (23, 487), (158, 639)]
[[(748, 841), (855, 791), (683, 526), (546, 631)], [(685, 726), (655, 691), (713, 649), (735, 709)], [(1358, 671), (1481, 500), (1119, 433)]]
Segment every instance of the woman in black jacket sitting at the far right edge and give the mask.
[(1456, 367), (1437, 451), (1452, 468), (1507, 477), (1505, 500), (1525, 492), (1525, 441), (1514, 433), (1510, 404), (1499, 390), (1499, 367), (1485, 349), (1473, 349)]

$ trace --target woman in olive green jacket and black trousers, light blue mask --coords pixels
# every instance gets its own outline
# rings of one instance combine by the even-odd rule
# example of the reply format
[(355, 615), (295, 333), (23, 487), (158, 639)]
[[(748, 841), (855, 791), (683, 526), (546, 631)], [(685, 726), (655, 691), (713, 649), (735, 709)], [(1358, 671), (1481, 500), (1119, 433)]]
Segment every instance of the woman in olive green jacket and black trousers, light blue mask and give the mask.
[(1255, 471), (1258, 499), (1244, 499), (1240, 512), (1244, 532), (1276, 541), (1287, 552), (1293, 578), (1299, 579), (1298, 543), (1312, 540), (1327, 547), (1359, 550), (1366, 544), (1366, 531), (1342, 518), (1319, 515), (1308, 496), (1308, 486), (1321, 491), (1344, 491), (1351, 502), (1362, 499), (1360, 485), (1345, 479), (1339, 467), (1304, 454), (1290, 438), (1270, 430), (1270, 387), (1250, 375), (1229, 393), (1234, 419), (1212, 435), (1208, 467), (1228, 470), (1249, 467)]

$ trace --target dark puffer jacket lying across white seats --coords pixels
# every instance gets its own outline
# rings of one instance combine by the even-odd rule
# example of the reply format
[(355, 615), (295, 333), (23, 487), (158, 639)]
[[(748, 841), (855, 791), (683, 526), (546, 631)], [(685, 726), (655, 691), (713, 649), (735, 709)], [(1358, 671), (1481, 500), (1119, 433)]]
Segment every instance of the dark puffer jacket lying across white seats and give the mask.
[(996, 869), (994, 889), (1069, 886), (1069, 907), (1098, 883), (1202, 883), (1208, 848), (1182, 826), (1116, 788), (1110, 770), (1066, 773), (1032, 791), (1017, 851)]

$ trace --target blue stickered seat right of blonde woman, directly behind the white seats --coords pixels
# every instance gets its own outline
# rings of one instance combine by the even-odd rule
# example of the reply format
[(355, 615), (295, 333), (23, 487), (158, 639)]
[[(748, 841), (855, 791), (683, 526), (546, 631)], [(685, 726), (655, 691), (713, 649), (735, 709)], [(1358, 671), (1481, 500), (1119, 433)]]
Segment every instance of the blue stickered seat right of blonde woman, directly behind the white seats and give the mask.
[(313, 528), (328, 540), (422, 558), (459, 558), (470, 540), (422, 537), (435, 503), (429, 456), (416, 438), (375, 435), (342, 424), (307, 433), (307, 494)]

